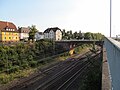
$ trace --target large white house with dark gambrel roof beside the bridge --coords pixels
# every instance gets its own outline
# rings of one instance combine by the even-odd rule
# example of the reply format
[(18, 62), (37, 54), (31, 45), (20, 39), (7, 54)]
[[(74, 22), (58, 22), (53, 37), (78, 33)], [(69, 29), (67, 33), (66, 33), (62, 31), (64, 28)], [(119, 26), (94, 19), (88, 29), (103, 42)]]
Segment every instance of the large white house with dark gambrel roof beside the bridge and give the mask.
[(62, 31), (58, 27), (48, 28), (44, 31), (44, 38), (52, 40), (61, 40)]

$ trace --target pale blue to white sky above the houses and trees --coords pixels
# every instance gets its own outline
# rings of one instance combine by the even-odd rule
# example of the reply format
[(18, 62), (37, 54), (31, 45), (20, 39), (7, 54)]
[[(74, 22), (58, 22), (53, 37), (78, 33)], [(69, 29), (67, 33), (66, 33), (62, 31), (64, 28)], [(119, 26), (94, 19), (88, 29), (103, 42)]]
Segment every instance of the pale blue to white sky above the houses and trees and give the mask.
[[(112, 0), (112, 36), (120, 34), (120, 0)], [(102, 33), (109, 37), (110, 0), (0, 0), (0, 21)]]

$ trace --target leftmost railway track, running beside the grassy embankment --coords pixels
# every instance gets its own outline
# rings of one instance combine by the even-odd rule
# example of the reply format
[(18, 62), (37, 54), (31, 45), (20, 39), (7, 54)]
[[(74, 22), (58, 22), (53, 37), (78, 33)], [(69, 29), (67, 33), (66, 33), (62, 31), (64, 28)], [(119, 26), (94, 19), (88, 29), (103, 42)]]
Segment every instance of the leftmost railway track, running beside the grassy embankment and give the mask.
[[(70, 60), (67, 60), (65, 62), (58, 63), (58, 64), (54, 65), (53, 67), (40, 70), (40, 73), (38, 73), (36, 76), (30, 78), (29, 80), (24, 81), (22, 84), (19, 84), (19, 85), (16, 85), (15, 87), (10, 88), (9, 90), (29, 90), (28, 87), (33, 85), (34, 83), (39, 83), (40, 86), (37, 86), (37, 88), (33, 88), (31, 90), (34, 90), (34, 89), (35, 90), (43, 90), (43, 89), (40, 89), (40, 88), (41, 87), (43, 88), (44, 86), (46, 86), (46, 84), (51, 83), (54, 80), (56, 80), (56, 78), (60, 77), (61, 73), (63, 74), (63, 72), (64, 73), (68, 72), (68, 71), (70, 71), (70, 69), (72, 70), (72, 67), (75, 67), (78, 63), (81, 63), (81, 64), (84, 63), (83, 59), (86, 58), (86, 55), (91, 56), (93, 54), (91, 52), (87, 52), (77, 59), (76, 58), (71, 58)], [(69, 63), (69, 61), (72, 61), (72, 62)], [(41, 80), (41, 78), (44, 77), (44, 75), (46, 73), (50, 74), (51, 72), (55, 71), (58, 67), (60, 68), (60, 71), (57, 72), (54, 76), (52, 76), (47, 82), (41, 82), (41, 83), (39, 82)]]

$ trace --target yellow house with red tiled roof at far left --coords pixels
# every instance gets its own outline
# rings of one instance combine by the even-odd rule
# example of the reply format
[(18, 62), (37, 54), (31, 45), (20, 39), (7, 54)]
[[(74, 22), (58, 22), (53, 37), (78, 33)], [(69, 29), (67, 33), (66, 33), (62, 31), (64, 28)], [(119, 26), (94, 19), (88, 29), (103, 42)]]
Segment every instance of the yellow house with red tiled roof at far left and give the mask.
[(0, 41), (1, 42), (19, 41), (19, 32), (12, 22), (0, 21)]

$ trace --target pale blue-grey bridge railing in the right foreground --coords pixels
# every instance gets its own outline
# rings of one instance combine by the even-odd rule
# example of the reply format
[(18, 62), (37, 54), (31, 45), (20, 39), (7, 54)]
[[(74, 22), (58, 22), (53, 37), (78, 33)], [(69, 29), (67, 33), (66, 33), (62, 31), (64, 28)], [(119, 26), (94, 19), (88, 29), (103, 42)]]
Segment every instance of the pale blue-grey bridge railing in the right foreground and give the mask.
[(120, 42), (112, 38), (105, 38), (104, 43), (107, 52), (112, 89), (120, 90)]

